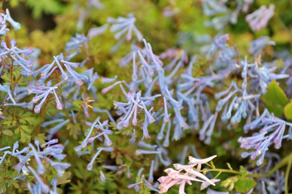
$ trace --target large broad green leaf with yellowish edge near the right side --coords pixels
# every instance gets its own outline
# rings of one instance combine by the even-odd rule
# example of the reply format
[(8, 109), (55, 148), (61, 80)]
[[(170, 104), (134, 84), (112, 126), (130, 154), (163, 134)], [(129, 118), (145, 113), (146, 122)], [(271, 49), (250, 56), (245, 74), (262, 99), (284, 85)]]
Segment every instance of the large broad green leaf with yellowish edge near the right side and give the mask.
[(283, 115), (284, 106), (288, 103), (284, 91), (275, 80), (271, 81), (267, 88), (267, 93), (262, 96), (262, 100), (265, 107), (277, 117)]

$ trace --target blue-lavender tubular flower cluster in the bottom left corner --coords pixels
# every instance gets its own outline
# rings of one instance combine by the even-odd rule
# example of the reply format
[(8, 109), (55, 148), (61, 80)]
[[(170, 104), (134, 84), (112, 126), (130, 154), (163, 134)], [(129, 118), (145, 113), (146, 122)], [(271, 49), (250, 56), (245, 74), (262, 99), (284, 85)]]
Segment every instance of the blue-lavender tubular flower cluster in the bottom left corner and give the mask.
[[(31, 184), (27, 183), (27, 188), (32, 194), (37, 193), (49, 193), (50, 194), (56, 194), (57, 193), (57, 179), (54, 177), (51, 181), (51, 184), (53, 186), (52, 190), (50, 187), (44, 183), (43, 179), (40, 177), (42, 174), (46, 172), (45, 165), (48, 163), (55, 171), (57, 171), (57, 175), (61, 177), (65, 170), (69, 168), (71, 165), (68, 163), (60, 162), (66, 157), (66, 154), (62, 154), (62, 151), (64, 149), (64, 146), (62, 144), (56, 144), (58, 143), (58, 139), (52, 139), (51, 141), (46, 142), (45, 144), (42, 144), (40, 146), (39, 140), (34, 141), (34, 144), (36, 145), (37, 149), (34, 147), (33, 144), (29, 143), (28, 147), (23, 148), (22, 150), (18, 150), (18, 141), (13, 144), (13, 150), (11, 151), (4, 151), (6, 149), (11, 148), (10, 146), (1, 148), (0, 151), (4, 151), (4, 155), (1, 157), (0, 164), (4, 161), (7, 154), (17, 158), (19, 160), (19, 163), (13, 168), (17, 170), (18, 174), (22, 172), (22, 175), (16, 177), (17, 179), (20, 179), (24, 181), (25, 176), (28, 174), (31, 174), (34, 176), (36, 183)], [(41, 151), (41, 148), (43, 149)], [(29, 151), (31, 150), (31, 151)], [(58, 161), (54, 161), (52, 158), (54, 157)], [(31, 158), (34, 158), (36, 164), (37, 164), (37, 171), (30, 165), (28, 161), (31, 160)]]

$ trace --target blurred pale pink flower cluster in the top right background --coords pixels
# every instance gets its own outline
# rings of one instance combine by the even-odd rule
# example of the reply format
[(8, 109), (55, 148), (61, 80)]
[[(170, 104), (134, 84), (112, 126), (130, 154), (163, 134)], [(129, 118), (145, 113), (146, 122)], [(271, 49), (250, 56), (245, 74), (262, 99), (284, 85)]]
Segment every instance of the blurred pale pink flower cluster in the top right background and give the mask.
[(260, 6), (258, 10), (246, 15), (245, 20), (248, 22), (253, 31), (258, 31), (267, 26), (268, 21), (274, 15), (274, 9), (274, 4), (270, 4), (269, 8), (265, 5)]

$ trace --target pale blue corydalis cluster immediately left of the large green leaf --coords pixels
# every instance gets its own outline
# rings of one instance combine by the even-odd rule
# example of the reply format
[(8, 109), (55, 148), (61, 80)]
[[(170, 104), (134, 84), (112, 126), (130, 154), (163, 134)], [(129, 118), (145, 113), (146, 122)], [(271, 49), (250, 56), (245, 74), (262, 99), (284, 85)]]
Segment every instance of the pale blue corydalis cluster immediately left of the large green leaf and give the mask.
[[(215, 94), (215, 98), (224, 96), (224, 98), (218, 101), (216, 106), (216, 111), (221, 111), (223, 109), (221, 115), (223, 123), (226, 123), (227, 120), (230, 119), (231, 123), (236, 125), (242, 118), (247, 118), (247, 122), (250, 122), (253, 114), (258, 112), (258, 100), (261, 94), (267, 92), (267, 86), (271, 81), (288, 77), (286, 74), (272, 73), (277, 67), (271, 67), (269, 69), (265, 66), (258, 67), (257, 62), (248, 64), (246, 59), (242, 62), (242, 65), (243, 69), (241, 71), (241, 77), (243, 78), (243, 82), (241, 88), (237, 87), (236, 82), (233, 81), (227, 90)], [(251, 89), (256, 91), (260, 89), (259, 94), (252, 94), (247, 91), (247, 76), (251, 78)], [(234, 90), (232, 90), (232, 88), (234, 88)], [(240, 94), (241, 96), (237, 94)], [(230, 100), (231, 103), (228, 104)], [(255, 102), (257, 104), (256, 106), (254, 105)], [(233, 110), (236, 110), (236, 112), (232, 116)]]

